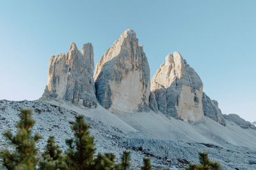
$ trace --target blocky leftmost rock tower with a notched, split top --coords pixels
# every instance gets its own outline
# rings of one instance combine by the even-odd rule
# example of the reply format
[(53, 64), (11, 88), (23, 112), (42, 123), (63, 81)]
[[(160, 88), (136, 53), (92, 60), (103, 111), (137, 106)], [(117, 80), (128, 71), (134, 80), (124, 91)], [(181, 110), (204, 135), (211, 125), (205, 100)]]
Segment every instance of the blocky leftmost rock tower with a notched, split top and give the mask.
[(54, 55), (49, 61), (48, 83), (44, 99), (63, 99), (79, 106), (97, 106), (93, 81), (93, 46), (83, 45), (77, 50), (75, 43), (67, 52)]

